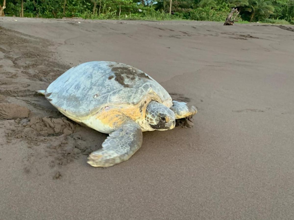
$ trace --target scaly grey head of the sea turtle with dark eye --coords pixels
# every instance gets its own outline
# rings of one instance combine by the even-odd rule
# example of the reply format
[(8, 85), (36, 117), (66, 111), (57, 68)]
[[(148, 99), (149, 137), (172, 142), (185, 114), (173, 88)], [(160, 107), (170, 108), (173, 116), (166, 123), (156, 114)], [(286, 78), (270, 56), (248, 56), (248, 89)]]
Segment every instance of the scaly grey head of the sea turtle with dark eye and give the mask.
[(156, 101), (151, 101), (148, 104), (145, 120), (151, 130), (168, 130), (173, 129), (176, 125), (175, 113)]

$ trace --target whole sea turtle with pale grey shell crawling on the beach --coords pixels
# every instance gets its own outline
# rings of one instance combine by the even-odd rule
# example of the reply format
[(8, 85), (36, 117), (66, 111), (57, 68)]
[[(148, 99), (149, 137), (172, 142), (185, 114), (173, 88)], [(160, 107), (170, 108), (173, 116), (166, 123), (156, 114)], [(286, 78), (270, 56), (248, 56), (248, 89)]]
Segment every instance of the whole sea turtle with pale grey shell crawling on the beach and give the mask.
[(118, 62), (79, 64), (37, 92), (69, 119), (109, 134), (88, 157), (94, 167), (128, 160), (141, 147), (143, 131), (173, 129), (176, 119), (197, 113), (145, 72)]

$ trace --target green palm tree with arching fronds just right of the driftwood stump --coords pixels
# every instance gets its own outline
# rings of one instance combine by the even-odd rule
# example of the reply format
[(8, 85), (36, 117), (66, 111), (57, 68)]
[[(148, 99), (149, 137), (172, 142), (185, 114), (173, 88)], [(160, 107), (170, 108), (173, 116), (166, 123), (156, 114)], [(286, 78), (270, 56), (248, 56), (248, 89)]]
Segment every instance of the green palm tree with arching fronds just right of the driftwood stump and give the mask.
[(252, 12), (250, 16), (250, 22), (252, 22), (255, 17), (260, 19), (272, 14), (275, 11), (272, 4), (270, 0), (249, 0), (249, 6), (243, 10)]

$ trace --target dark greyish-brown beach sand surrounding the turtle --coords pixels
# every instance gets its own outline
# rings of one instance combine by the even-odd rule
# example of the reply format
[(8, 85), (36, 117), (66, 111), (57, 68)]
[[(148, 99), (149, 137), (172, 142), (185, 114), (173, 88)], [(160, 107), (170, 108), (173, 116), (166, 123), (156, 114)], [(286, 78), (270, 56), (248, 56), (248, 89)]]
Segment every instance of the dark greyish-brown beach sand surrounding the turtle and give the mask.
[[(1, 220), (294, 219), (290, 26), (10, 17), (0, 26)], [(107, 135), (34, 92), (91, 60), (148, 73), (198, 107), (195, 125), (146, 132), (128, 161), (91, 167)]]

